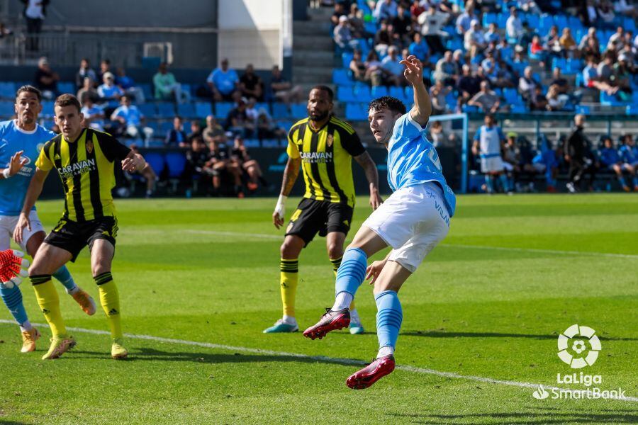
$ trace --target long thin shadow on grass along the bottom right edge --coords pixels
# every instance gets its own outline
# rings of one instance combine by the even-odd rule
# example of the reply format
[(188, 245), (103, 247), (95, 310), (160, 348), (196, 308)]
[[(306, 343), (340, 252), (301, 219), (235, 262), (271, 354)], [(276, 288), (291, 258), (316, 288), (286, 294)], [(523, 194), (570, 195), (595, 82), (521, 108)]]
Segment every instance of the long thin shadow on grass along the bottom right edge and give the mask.
[[(627, 412), (627, 413), (625, 413)], [(391, 421), (410, 421), (414, 424), (636, 424), (636, 412), (619, 411), (587, 414), (573, 412), (511, 412), (469, 414), (403, 414), (391, 413)]]

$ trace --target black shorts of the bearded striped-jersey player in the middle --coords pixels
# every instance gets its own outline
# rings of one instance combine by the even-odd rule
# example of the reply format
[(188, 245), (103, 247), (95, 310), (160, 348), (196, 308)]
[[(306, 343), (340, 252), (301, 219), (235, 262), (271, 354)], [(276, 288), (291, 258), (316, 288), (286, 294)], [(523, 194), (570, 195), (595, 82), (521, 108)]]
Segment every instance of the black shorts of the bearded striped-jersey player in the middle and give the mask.
[(352, 222), (352, 207), (328, 200), (303, 198), (290, 218), (286, 236), (294, 234), (303, 239), (306, 245), (315, 234), (325, 236), (330, 232), (348, 234)]

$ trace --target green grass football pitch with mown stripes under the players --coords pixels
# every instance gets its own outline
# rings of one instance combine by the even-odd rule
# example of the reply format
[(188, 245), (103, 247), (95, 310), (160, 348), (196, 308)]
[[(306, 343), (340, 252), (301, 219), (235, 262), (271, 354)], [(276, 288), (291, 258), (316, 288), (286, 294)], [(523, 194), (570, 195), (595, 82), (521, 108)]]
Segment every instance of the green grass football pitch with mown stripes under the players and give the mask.
[[(288, 216), (297, 200), (289, 200)], [(57, 285), (77, 347), (56, 361), (21, 354), (0, 307), (0, 423), (11, 424), (608, 424), (638, 422), (638, 196), (460, 196), (449, 236), (401, 290), (400, 365), (367, 390), (345, 379), (376, 354), (376, 305), (364, 283), (363, 335), (319, 341), (262, 334), (281, 314), (274, 199), (116, 200), (113, 277), (130, 358), (113, 361), (99, 307)], [(51, 229), (60, 201), (38, 203)], [(369, 215), (359, 198), (349, 238)], [(303, 329), (332, 305), (317, 238), (300, 257)], [(86, 250), (70, 265), (96, 300)], [(32, 322), (42, 323), (28, 282)], [(572, 369), (557, 338), (591, 327), (597, 361)], [(97, 332), (96, 332), (97, 331)], [(582, 383), (628, 399), (575, 398)], [(537, 385), (550, 392), (532, 397)], [(591, 388), (590, 387), (590, 388)], [(553, 393), (562, 398), (554, 399)], [(571, 397), (569, 397), (571, 395)]]

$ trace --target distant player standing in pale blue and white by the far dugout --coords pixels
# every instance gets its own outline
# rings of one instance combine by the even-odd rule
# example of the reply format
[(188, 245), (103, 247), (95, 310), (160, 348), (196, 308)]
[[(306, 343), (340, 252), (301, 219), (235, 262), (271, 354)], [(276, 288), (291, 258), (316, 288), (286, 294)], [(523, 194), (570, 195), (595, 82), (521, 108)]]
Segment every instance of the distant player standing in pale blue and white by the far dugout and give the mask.
[(508, 176), (505, 175), (501, 150), (505, 144), (503, 130), (496, 125), (493, 115), (485, 115), (485, 125), (476, 130), (472, 153), (481, 158), (481, 173), (485, 174), (485, 191), (494, 193), (494, 179), (498, 177), (503, 192), (511, 193)]

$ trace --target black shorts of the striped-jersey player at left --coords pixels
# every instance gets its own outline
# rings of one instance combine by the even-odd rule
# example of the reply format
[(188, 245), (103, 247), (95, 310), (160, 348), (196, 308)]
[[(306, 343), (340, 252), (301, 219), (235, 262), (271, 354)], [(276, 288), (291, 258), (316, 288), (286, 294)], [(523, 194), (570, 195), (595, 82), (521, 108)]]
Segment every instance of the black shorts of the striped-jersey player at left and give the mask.
[(60, 219), (55, 229), (45, 238), (47, 244), (69, 251), (73, 258), (89, 245), (93, 247), (96, 239), (106, 239), (115, 246), (115, 238), (118, 235), (118, 219), (116, 217), (101, 217), (85, 222), (74, 222), (66, 218)]

